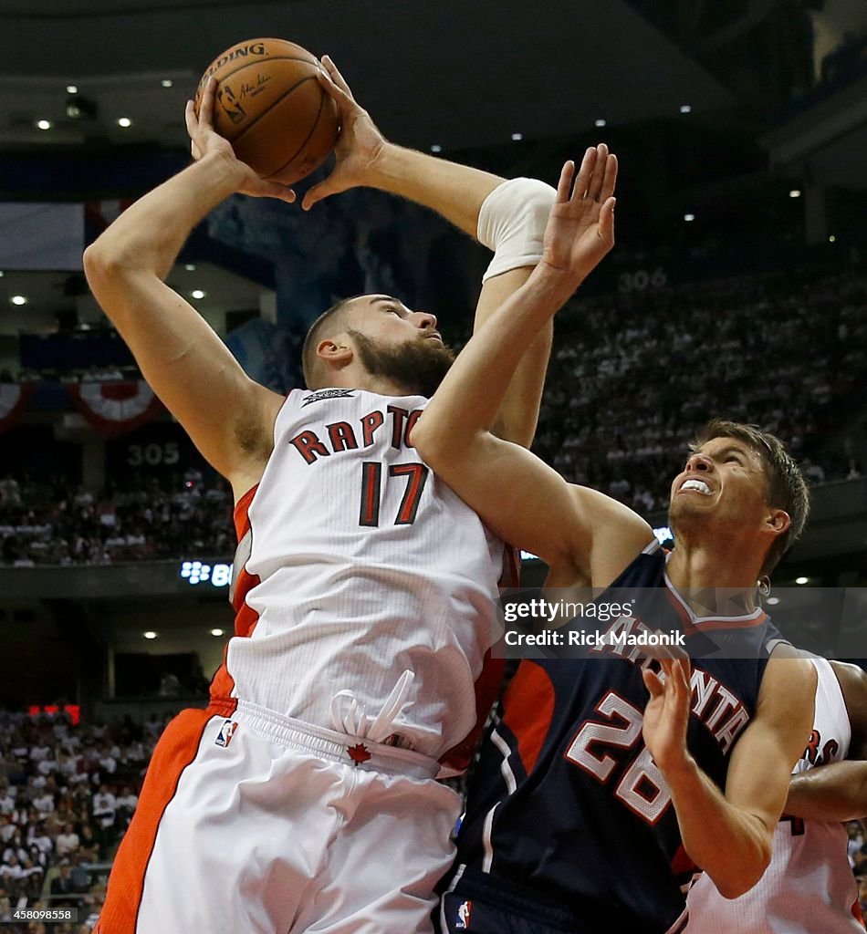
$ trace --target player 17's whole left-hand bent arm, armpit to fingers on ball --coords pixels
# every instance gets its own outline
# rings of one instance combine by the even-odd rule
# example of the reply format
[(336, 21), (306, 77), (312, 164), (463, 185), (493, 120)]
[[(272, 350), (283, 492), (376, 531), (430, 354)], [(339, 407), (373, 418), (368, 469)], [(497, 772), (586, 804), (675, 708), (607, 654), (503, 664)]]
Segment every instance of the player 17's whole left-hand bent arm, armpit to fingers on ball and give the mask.
[(198, 312), (163, 282), (192, 228), (235, 191), (293, 201), (235, 159), (211, 128), (213, 79), (199, 118), (187, 106), (197, 162), (135, 202), (87, 248), (93, 295), (142, 374), (193, 443), (240, 495), (258, 479), (282, 402), (254, 383)]

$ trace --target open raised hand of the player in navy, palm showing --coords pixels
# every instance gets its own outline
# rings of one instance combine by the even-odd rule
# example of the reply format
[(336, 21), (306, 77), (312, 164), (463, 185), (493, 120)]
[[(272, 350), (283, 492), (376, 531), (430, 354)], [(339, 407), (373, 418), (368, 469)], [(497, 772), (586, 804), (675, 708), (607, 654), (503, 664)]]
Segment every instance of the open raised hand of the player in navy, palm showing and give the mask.
[(574, 289), (614, 246), (617, 178), (617, 156), (604, 143), (584, 153), (577, 177), (575, 163), (563, 166), (540, 265), (565, 276)]

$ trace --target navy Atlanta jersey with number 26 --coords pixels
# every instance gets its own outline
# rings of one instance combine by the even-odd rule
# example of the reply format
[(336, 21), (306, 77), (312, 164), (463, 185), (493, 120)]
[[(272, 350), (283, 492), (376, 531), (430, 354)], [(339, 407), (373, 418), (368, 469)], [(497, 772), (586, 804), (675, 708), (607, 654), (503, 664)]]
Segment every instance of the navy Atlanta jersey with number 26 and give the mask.
[[(599, 601), (621, 588), (637, 595), (632, 616), (651, 630), (684, 632), (693, 658), (689, 750), (721, 787), (779, 633), (760, 609), (693, 616), (655, 542)], [(732, 640), (735, 652), (706, 647)], [(580, 660), (520, 662), (471, 779), (450, 882), (459, 900), (511, 905), (524, 917), (536, 906), (555, 927), (582, 934), (663, 934), (685, 923), (695, 867), (642, 739), (642, 667), (657, 663), (639, 653), (618, 644)]]

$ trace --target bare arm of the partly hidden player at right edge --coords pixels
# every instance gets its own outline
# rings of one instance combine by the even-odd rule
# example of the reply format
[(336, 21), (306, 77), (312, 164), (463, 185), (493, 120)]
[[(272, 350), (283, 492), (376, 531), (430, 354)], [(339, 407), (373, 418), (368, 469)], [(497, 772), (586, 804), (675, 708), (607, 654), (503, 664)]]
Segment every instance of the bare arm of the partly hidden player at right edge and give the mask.
[(849, 755), (793, 775), (784, 810), (807, 820), (861, 820), (867, 817), (867, 672), (840, 661), (831, 667), (852, 726)]

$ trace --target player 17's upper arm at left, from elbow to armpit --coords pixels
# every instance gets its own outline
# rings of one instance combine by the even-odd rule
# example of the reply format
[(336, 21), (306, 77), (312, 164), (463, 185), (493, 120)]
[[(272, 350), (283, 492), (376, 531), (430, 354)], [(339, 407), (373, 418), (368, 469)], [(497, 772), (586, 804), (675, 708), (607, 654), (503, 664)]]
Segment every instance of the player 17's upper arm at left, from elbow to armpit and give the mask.
[(157, 276), (92, 249), (85, 269), (151, 389), (243, 493), (270, 454), (282, 397), (249, 379), (206, 320)]

